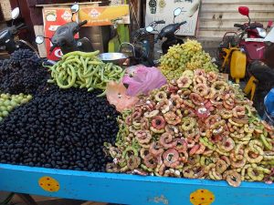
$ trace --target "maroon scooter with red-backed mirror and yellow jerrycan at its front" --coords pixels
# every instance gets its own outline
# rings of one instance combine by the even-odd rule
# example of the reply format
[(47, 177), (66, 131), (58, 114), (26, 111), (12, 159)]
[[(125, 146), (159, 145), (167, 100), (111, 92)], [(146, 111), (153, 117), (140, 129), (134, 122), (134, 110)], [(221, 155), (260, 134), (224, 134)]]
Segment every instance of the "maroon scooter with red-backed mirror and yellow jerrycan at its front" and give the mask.
[[(235, 24), (234, 26), (240, 33), (227, 32), (218, 48), (218, 57), (223, 60), (220, 71), (230, 74), (236, 83), (246, 77), (247, 67), (252, 62), (263, 60), (265, 50), (263, 39), (267, 36), (267, 29), (272, 25), (272, 22), (269, 21), (269, 25), (265, 29), (260, 23), (251, 23), (249, 9), (246, 6), (238, 7), (238, 12), (248, 17), (248, 23)], [(246, 35), (247, 37), (244, 38)], [(229, 65), (229, 69), (226, 69), (227, 65)]]

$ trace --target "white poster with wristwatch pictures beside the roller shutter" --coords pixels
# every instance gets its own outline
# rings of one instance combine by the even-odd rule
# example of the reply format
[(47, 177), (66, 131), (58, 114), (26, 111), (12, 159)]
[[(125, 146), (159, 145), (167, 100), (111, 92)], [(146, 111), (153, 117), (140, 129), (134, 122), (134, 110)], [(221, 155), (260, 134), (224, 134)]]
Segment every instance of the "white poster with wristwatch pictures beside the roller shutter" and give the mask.
[(175, 23), (183, 21), (187, 23), (181, 26), (181, 29), (176, 35), (195, 36), (199, 9), (197, 9), (191, 17), (186, 17), (185, 14), (188, 13), (196, 2), (199, 2), (199, 0), (147, 0), (145, 25), (149, 26), (153, 21), (164, 20), (165, 25), (155, 27), (160, 32), (164, 26), (174, 23), (174, 10), (181, 8), (183, 12), (175, 18)]

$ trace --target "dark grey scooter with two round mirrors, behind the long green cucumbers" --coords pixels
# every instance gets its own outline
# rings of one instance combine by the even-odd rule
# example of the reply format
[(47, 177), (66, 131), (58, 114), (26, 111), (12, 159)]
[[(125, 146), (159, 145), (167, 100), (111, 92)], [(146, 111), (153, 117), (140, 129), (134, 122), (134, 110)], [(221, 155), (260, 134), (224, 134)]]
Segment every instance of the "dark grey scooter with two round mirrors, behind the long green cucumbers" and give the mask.
[[(87, 20), (80, 22), (73, 22), (73, 15), (79, 11), (79, 5), (75, 4), (71, 6), (71, 21), (66, 25), (59, 26), (54, 36), (48, 38), (52, 43), (52, 46), (49, 49), (50, 54), (56, 47), (60, 47), (63, 55), (68, 54), (72, 51), (83, 51), (83, 52), (92, 52), (94, 51), (89, 38), (83, 37), (80, 39), (75, 39), (74, 36), (79, 32), (81, 26), (84, 26), (88, 23)], [(37, 44), (44, 43), (45, 36), (37, 36)]]

